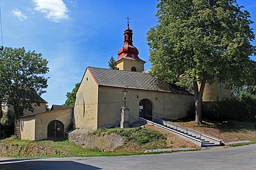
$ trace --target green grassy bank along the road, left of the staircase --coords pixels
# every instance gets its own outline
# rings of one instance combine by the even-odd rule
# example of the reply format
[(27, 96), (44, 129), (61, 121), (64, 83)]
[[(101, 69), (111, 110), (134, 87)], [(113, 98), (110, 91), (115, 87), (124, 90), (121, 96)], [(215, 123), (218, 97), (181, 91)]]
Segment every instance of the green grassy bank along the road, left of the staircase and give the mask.
[[(91, 156), (128, 156), (136, 154), (149, 154), (144, 153), (147, 149), (154, 148), (166, 148), (165, 137), (161, 133), (150, 130), (147, 128), (113, 128), (113, 129), (99, 129), (94, 132), (94, 135), (100, 136), (107, 135), (107, 133), (118, 133), (119, 135), (125, 136), (127, 141), (124, 148), (119, 148), (113, 152), (106, 152), (97, 147), (85, 149), (80, 145), (71, 143), (69, 140), (18, 140), (15, 137), (0, 140), (0, 151), (1, 148), (6, 148), (8, 154), (2, 155), (6, 157), (91, 157)], [(54, 154), (37, 154), (35, 147), (41, 147), (45, 150), (53, 150)], [(14, 148), (14, 149), (13, 149)], [(13, 150), (18, 150), (13, 154)], [(31, 152), (35, 152), (35, 155), (31, 156)], [(56, 154), (55, 154), (56, 152)], [(52, 153), (52, 152), (51, 152)], [(0, 152), (1, 155), (1, 152)]]

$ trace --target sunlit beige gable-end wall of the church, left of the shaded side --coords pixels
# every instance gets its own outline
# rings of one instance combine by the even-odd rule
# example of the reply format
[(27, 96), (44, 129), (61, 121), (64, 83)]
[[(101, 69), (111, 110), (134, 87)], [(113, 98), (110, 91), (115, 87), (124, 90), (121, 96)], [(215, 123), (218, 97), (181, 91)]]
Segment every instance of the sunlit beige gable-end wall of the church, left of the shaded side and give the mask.
[(87, 69), (76, 93), (74, 109), (75, 128), (86, 128), (91, 131), (97, 129), (97, 103), (98, 85)]

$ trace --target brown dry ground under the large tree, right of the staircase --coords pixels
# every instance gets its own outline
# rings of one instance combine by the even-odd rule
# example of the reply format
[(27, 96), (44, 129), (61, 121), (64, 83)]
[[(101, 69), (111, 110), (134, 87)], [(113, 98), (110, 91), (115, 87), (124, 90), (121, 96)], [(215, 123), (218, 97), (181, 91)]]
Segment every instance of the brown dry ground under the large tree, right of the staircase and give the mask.
[[(182, 125), (180, 122), (176, 122)], [(203, 125), (199, 126), (194, 121), (183, 123), (184, 127), (192, 128), (198, 132), (219, 138), (224, 142), (233, 142), (239, 140), (256, 141), (256, 130), (253, 128), (253, 122), (209, 122), (203, 121)]]

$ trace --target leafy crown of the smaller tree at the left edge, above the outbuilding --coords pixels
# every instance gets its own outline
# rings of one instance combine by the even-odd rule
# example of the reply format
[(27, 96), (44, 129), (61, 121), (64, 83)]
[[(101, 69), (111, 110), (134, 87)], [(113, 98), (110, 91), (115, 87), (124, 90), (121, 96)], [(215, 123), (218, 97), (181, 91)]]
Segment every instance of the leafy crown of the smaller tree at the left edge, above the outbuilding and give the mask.
[(25, 48), (6, 47), (0, 52), (1, 99), (13, 106), (16, 118), (23, 110), (33, 110), (32, 103), (40, 104), (38, 95), (45, 93), (49, 71), (47, 60), (35, 51), (26, 52)]

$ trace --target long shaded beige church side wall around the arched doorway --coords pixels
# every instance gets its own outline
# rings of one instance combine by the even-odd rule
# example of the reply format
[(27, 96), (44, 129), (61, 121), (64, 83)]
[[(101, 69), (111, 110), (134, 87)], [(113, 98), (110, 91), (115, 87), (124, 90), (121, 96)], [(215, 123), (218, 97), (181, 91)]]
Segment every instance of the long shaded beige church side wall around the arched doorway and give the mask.
[[(121, 121), (121, 106), (124, 88), (99, 86), (99, 113), (97, 128), (111, 127)], [(138, 120), (139, 103), (149, 99), (152, 103), (152, 115), (159, 113), (157, 118), (183, 118), (193, 104), (193, 96), (186, 94), (165, 93), (140, 89), (126, 89), (126, 106), (130, 110), (130, 123)], [(138, 96), (138, 98), (137, 98)], [(157, 98), (157, 99), (156, 99)]]

